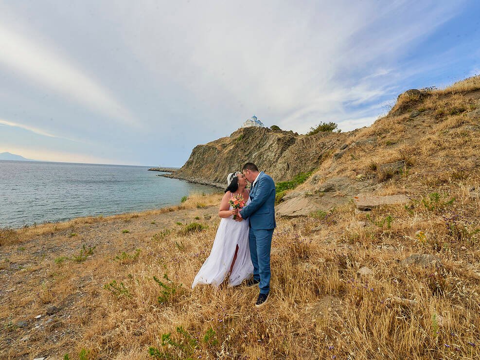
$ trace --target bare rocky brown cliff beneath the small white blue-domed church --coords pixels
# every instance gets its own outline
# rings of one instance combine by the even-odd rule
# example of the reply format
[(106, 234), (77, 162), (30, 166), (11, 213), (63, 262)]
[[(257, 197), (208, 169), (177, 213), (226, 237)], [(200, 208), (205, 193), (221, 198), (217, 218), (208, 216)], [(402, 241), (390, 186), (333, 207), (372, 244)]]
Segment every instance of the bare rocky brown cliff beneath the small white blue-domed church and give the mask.
[(227, 175), (254, 162), (275, 181), (317, 169), (352, 133), (312, 136), (269, 128), (240, 128), (230, 136), (197, 145), (175, 178), (226, 186)]

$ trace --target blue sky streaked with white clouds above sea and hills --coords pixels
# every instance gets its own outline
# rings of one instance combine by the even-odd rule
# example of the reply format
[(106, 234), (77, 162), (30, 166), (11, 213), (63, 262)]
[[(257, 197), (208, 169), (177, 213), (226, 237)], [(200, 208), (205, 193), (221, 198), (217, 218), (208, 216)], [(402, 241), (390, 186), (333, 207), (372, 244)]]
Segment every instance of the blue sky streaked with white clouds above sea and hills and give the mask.
[(256, 114), (368, 126), (480, 73), (480, 1), (1, 1), (0, 152), (181, 166)]

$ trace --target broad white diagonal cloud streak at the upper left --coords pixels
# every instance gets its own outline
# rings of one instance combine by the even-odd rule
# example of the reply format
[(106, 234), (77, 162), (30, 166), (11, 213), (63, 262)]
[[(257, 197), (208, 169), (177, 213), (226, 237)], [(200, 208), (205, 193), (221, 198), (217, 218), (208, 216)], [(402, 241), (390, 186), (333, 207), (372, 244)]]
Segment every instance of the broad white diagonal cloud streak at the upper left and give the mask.
[(38, 86), (54, 90), (110, 120), (135, 125), (134, 116), (109, 90), (40, 41), (17, 34), (0, 23), (0, 48), (0, 63)]

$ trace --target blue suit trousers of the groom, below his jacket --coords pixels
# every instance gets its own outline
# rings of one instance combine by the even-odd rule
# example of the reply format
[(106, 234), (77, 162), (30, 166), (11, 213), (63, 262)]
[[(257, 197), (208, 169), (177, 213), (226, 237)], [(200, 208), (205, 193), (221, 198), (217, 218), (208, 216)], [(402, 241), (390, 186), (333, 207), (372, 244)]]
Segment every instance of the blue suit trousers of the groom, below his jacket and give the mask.
[(253, 264), (253, 278), (260, 281), (258, 287), (261, 294), (270, 291), (270, 250), (272, 247), (273, 229), (253, 230), (250, 228), (249, 247)]

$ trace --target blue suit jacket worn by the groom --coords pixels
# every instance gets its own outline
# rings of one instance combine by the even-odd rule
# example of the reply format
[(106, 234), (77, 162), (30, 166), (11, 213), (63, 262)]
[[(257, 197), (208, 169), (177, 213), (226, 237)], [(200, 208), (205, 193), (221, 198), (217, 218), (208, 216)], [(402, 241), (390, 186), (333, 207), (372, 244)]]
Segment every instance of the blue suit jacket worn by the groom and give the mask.
[(270, 230), (277, 227), (275, 221), (275, 183), (263, 171), (258, 175), (257, 182), (250, 193), (250, 203), (245, 206), (240, 215), (249, 219), (253, 230)]

